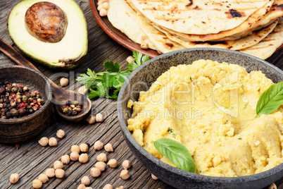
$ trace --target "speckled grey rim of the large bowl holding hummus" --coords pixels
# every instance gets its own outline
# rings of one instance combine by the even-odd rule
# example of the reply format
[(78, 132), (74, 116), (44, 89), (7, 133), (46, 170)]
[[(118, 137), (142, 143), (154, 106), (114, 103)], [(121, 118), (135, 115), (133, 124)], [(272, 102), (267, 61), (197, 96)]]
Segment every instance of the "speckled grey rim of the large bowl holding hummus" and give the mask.
[(139, 145), (139, 143), (137, 142), (137, 140), (134, 139), (134, 137), (132, 136), (132, 134), (130, 133), (130, 131), (127, 129), (127, 125), (124, 121), (124, 116), (122, 115), (122, 97), (124, 95), (124, 92), (127, 88), (127, 85), (130, 83), (130, 80), (134, 77), (134, 75), (136, 75), (140, 70), (142, 70), (142, 68), (144, 68), (145, 66), (149, 65), (150, 63), (152, 63), (153, 61), (156, 61), (157, 59), (161, 59), (165, 56), (172, 56), (174, 54), (179, 54), (179, 53), (184, 53), (187, 51), (203, 51), (203, 50), (209, 50), (209, 51), (225, 51), (229, 54), (241, 54), (242, 56), (247, 56), (251, 59), (256, 59), (257, 61), (262, 62), (263, 64), (275, 69), (276, 71), (279, 71), (279, 73), (282, 73), (283, 75), (283, 71), (281, 69), (279, 69), (277, 66), (268, 63), (267, 61), (264, 61), (263, 59), (259, 59), (256, 56), (252, 56), (249, 54), (244, 54), (242, 52), (239, 51), (232, 51), (229, 49), (219, 49), (219, 48), (210, 48), (210, 47), (206, 47), (206, 48), (191, 48), (191, 49), (180, 49), (177, 51), (170, 51), (166, 54), (161, 54), (160, 56), (156, 56), (153, 59), (150, 59), (149, 61), (146, 61), (146, 63), (143, 63), (142, 66), (139, 66), (136, 70), (134, 70), (129, 77), (127, 77), (127, 80), (125, 80), (125, 83), (122, 85), (120, 92), (118, 94), (118, 102), (117, 102), (117, 111), (118, 111), (118, 121), (120, 124), (120, 128), (122, 130), (122, 133), (124, 134), (124, 138), (127, 138), (127, 140), (129, 140), (132, 145), (139, 150), (140, 153), (142, 153), (142, 155), (144, 157), (149, 158), (151, 161), (153, 161), (154, 164), (157, 164), (158, 166), (162, 166), (163, 169), (167, 169), (168, 171), (175, 173), (177, 176), (186, 176), (187, 178), (193, 178), (193, 179), (197, 179), (197, 180), (201, 180), (201, 181), (208, 181), (208, 182), (213, 182), (213, 183), (231, 183), (231, 182), (247, 182), (247, 181), (257, 181), (258, 178), (265, 178), (268, 176), (272, 176), (275, 173), (278, 173), (279, 171), (283, 170), (283, 163), (279, 164), (278, 166), (275, 166), (272, 169), (269, 169), (267, 171), (263, 171), (260, 173), (255, 173), (249, 176), (237, 176), (237, 177), (218, 177), (218, 176), (204, 176), (198, 173), (191, 173), (189, 171), (184, 171), (182, 169), (178, 169), (177, 167), (174, 166), (170, 166), (169, 164), (165, 164), (163, 161), (161, 161), (160, 159), (154, 157), (153, 155), (149, 154), (149, 152), (147, 152), (141, 145)]

